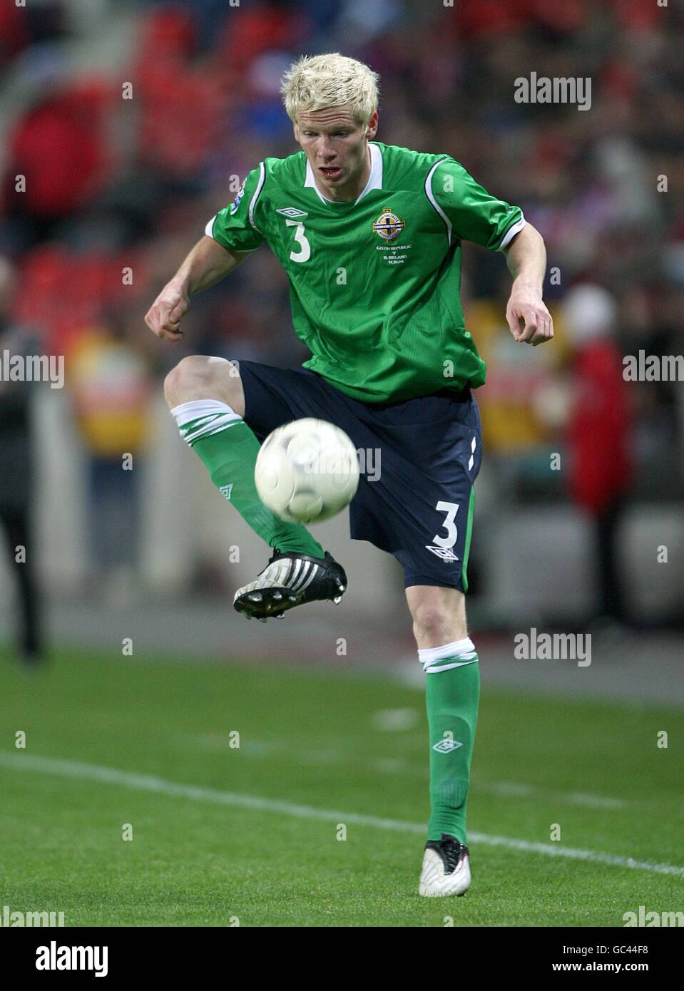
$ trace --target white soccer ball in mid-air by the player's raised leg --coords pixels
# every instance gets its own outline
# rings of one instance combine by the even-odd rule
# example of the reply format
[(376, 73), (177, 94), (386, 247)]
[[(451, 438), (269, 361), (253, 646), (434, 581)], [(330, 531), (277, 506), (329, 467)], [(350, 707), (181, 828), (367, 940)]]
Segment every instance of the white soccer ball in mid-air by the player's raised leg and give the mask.
[(344, 430), (306, 417), (269, 434), (254, 481), (264, 505), (281, 519), (311, 523), (334, 516), (356, 495), (359, 460)]

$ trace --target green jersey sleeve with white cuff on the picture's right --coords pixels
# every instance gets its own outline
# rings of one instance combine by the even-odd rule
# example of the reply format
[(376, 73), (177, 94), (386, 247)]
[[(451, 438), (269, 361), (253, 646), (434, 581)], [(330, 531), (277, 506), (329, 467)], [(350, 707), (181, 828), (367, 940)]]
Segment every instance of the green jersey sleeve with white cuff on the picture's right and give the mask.
[(525, 225), (519, 206), (490, 195), (453, 159), (434, 166), (426, 192), (446, 224), (449, 240), (457, 237), (502, 251)]

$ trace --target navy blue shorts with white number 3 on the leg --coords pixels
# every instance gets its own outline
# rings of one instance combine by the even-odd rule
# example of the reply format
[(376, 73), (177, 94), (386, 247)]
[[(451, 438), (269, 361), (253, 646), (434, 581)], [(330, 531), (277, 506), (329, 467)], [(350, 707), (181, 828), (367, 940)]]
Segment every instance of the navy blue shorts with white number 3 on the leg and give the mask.
[(328, 420), (351, 438), (361, 464), (349, 506), (352, 539), (394, 554), (406, 587), (467, 592), (473, 483), (482, 458), (480, 412), (469, 388), (371, 405), (308, 369), (238, 364), (244, 418), (260, 441), (304, 416)]

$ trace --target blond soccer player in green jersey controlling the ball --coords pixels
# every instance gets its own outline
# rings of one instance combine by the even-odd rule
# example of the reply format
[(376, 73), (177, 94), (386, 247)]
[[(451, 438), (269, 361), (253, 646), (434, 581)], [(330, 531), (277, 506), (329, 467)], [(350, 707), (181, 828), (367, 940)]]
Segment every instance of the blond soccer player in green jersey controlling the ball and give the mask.
[(480, 695), (465, 593), (474, 490), (482, 456), (473, 389), (485, 364), (465, 328), (461, 243), (505, 252), (507, 320), (531, 345), (553, 336), (542, 302), (544, 244), (520, 209), (490, 195), (450, 155), (375, 141), (378, 76), (338, 54), (302, 57), (285, 73), (285, 109), (300, 152), (266, 159), (220, 210), (147, 314), (169, 341), (190, 297), (267, 242), (289, 277), (303, 368), (190, 356), (166, 395), (182, 437), (223, 495), (273, 550), (234, 606), (266, 621), (315, 600), (339, 602), (340, 565), (301, 525), (261, 503), (260, 441), (305, 416), (336, 424), (355, 448), (380, 449), (363, 475), (351, 536), (394, 554), (404, 571), (427, 675), (430, 819), (419, 893), (470, 885), (466, 800)]

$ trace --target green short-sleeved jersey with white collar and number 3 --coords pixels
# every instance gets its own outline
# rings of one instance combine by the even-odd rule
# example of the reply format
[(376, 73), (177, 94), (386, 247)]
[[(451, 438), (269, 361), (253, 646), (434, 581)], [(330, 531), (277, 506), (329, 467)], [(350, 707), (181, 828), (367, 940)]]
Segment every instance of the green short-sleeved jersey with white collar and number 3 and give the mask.
[(225, 248), (267, 241), (289, 277), (304, 368), (362, 402), (485, 381), (465, 328), (461, 242), (505, 248), (524, 226), (448, 155), (369, 142), (355, 202), (326, 199), (303, 152), (266, 159), (206, 233)]

